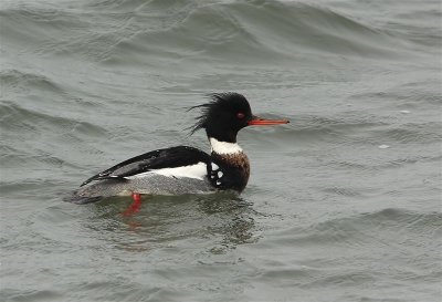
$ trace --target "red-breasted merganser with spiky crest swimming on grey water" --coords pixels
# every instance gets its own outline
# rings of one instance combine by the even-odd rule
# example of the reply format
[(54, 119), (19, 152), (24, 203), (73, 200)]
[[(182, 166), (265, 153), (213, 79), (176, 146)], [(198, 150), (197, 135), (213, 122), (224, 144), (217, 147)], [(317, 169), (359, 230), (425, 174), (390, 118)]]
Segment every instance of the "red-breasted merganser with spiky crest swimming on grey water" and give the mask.
[(127, 159), (81, 185), (66, 200), (75, 204), (128, 195), (140, 202), (140, 195), (203, 194), (217, 190), (241, 192), (249, 180), (250, 164), (236, 144), (240, 129), (252, 125), (287, 124), (286, 119), (264, 119), (252, 115), (248, 100), (238, 93), (215, 93), (211, 102), (194, 106), (201, 116), (191, 134), (206, 129), (210, 155), (188, 146), (158, 149)]

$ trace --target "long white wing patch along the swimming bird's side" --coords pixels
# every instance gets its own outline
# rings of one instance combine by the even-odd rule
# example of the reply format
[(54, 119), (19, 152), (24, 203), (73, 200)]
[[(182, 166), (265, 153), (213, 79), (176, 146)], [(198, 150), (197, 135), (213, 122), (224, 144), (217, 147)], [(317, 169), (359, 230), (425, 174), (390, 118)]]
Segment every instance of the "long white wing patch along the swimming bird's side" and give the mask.
[(167, 177), (189, 177), (189, 178), (197, 178), (203, 180), (203, 177), (207, 175), (207, 165), (202, 162), (183, 166), (183, 167), (176, 167), (176, 168), (162, 168), (157, 170), (150, 170), (146, 173), (140, 173), (137, 175), (125, 177), (126, 179), (134, 179), (134, 178), (141, 178), (151, 176), (152, 174), (162, 175)]

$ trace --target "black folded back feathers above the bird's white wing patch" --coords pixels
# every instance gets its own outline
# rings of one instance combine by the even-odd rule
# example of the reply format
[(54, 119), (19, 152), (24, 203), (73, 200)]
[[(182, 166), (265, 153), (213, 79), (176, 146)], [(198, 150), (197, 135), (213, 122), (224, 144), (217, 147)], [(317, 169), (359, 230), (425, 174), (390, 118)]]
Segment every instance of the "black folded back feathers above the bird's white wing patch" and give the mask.
[(84, 181), (81, 187), (94, 180), (123, 178), (154, 169), (176, 168), (180, 166), (194, 165), (200, 162), (209, 164), (210, 156), (193, 147), (178, 146), (152, 150), (127, 159), (107, 170), (94, 175)]

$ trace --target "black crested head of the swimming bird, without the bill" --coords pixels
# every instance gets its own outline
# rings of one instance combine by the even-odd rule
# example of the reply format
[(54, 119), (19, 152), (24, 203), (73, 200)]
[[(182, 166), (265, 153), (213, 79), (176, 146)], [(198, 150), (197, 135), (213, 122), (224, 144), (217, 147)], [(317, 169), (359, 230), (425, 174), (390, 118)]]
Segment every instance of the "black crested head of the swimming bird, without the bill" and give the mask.
[(204, 128), (209, 137), (220, 142), (236, 143), (236, 134), (253, 119), (248, 100), (234, 92), (213, 93), (210, 102), (192, 108), (201, 108), (201, 115), (191, 128)]

